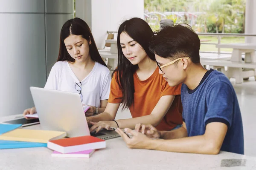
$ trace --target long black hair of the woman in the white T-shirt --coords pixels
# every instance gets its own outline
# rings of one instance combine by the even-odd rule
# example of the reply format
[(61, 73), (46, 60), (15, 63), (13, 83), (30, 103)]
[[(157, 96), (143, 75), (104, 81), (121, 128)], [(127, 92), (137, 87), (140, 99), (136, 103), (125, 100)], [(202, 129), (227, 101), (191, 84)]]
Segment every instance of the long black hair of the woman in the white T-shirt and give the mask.
[(61, 28), (61, 36), (60, 36), (60, 47), (57, 61), (69, 61), (71, 63), (75, 62), (75, 59), (72, 58), (67, 52), (64, 40), (70, 35), (81, 35), (88, 42), (91, 41), (89, 45), (90, 57), (93, 61), (97, 61), (101, 63), (103, 66), (107, 66), (106, 63), (102, 60), (99, 55), (99, 51), (97, 49), (96, 43), (94, 41), (92, 32), (84, 20), (80, 18), (73, 18), (68, 20)]

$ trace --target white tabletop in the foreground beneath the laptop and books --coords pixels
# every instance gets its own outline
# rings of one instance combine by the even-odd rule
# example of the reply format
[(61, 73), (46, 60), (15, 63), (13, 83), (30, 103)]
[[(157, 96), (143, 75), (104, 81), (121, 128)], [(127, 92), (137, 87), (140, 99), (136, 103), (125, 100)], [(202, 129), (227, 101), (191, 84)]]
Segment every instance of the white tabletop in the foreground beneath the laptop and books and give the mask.
[[(0, 118), (7, 121), (15, 116)], [(25, 127), (41, 129), (40, 125)], [(0, 150), (0, 170), (255, 170), (256, 158), (235, 153), (218, 155), (129, 149), (122, 138), (106, 140), (106, 149), (90, 158), (51, 157), (46, 147)], [(237, 166), (240, 165), (240, 166)], [(228, 168), (231, 167), (231, 168)]]

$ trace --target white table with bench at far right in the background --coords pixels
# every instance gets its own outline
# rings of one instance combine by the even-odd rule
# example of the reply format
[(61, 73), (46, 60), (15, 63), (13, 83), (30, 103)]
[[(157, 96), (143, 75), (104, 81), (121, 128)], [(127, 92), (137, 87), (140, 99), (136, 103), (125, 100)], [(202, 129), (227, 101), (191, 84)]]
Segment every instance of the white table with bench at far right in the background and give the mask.
[[(217, 48), (232, 48), (232, 56), (230, 61), (241, 62), (242, 61), (242, 52), (245, 53), (244, 61), (245, 63), (256, 63), (256, 44), (255, 43), (229, 43), (229, 44), (217, 44)], [(236, 78), (236, 83), (242, 83), (243, 78), (248, 78), (251, 76), (255, 76), (256, 78), (256, 70), (253, 69), (253, 72), (250, 71), (252, 69), (242, 70), (242, 68), (233, 68), (230, 67), (227, 70), (228, 77)]]

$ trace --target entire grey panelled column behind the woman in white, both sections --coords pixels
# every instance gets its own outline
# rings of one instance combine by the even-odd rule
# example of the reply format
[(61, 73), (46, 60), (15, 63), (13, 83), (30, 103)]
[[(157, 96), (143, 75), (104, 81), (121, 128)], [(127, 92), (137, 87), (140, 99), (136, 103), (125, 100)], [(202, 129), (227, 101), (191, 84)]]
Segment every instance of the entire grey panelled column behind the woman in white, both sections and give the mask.
[(29, 87), (44, 87), (72, 17), (73, 0), (0, 0), (0, 116), (34, 106)]

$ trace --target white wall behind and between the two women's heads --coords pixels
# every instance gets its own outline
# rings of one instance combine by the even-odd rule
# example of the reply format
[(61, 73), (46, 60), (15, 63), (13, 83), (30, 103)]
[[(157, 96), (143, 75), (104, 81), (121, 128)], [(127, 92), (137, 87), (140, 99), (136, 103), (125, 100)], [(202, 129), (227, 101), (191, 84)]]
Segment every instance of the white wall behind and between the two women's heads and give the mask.
[(76, 3), (76, 17), (90, 26), (98, 48), (104, 47), (107, 31), (117, 31), (125, 19), (143, 18), (144, 14), (144, 0), (76, 0)]

